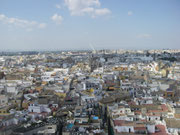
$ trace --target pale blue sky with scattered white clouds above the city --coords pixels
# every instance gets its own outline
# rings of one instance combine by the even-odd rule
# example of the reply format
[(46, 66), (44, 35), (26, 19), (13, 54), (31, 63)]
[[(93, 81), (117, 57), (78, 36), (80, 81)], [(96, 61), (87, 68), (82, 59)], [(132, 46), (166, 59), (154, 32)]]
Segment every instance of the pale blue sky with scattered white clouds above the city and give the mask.
[(0, 51), (180, 49), (180, 0), (0, 0)]

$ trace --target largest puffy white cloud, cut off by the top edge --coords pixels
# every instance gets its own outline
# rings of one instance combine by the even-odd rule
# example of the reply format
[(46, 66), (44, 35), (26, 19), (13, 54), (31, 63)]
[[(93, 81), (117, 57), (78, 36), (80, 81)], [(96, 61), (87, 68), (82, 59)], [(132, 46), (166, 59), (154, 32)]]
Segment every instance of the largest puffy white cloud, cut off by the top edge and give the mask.
[(72, 16), (90, 15), (104, 16), (111, 13), (107, 8), (101, 8), (99, 0), (64, 0)]

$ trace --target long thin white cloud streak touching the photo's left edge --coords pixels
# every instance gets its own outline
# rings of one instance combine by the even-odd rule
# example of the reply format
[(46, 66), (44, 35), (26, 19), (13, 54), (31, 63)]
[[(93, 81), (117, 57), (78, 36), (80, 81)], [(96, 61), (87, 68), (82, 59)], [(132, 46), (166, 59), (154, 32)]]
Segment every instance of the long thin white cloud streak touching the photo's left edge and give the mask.
[(18, 28), (24, 28), (27, 31), (39, 28), (43, 29), (46, 27), (46, 23), (38, 23), (36, 21), (28, 21), (19, 18), (7, 17), (4, 14), (0, 14), (0, 22), (8, 26), (15, 26)]

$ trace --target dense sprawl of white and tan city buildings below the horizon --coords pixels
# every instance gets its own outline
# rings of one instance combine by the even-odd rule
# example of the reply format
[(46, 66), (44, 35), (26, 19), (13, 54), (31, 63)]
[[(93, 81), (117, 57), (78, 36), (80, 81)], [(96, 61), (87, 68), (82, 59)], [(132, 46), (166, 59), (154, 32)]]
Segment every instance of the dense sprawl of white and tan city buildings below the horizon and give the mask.
[(2, 56), (0, 134), (178, 135), (180, 55), (169, 53)]

